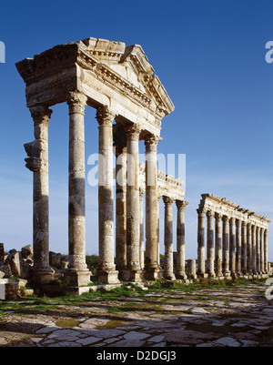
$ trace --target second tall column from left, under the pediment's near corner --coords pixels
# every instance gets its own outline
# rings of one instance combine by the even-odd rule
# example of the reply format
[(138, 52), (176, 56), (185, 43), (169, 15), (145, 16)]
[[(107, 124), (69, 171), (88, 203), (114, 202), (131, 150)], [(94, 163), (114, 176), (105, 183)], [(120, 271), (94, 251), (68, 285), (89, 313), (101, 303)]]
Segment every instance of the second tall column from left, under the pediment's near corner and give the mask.
[(69, 166), (68, 166), (68, 253), (67, 278), (80, 286), (90, 282), (86, 267), (86, 162), (85, 108), (87, 97), (71, 92), (69, 106)]

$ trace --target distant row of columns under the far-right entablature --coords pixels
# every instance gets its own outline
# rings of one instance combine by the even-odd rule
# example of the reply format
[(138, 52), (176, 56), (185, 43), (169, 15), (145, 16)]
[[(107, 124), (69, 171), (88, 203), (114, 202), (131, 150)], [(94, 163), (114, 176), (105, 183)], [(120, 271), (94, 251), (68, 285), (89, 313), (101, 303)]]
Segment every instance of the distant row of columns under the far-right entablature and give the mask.
[(268, 274), (267, 228), (202, 208), (197, 209), (197, 214), (197, 275), (199, 277)]

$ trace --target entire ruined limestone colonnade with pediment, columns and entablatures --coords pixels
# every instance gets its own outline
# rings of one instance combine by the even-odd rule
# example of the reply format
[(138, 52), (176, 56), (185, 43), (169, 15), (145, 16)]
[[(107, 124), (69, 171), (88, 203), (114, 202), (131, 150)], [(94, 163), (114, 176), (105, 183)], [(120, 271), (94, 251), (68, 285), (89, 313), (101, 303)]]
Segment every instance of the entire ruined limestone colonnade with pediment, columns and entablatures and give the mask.
[[(137, 282), (162, 276), (170, 280), (187, 279), (185, 208), (188, 203), (184, 200), (185, 191), (181, 188), (181, 180), (157, 171), (157, 144), (162, 139), (161, 120), (174, 110), (174, 105), (141, 46), (86, 38), (55, 46), (34, 58), (26, 58), (16, 67), (25, 81), (26, 105), (33, 117), (35, 130), (35, 140), (25, 144), (26, 167), (33, 172), (32, 281), (36, 285), (44, 285), (50, 283), (54, 276), (49, 265), (47, 132), (52, 117), (50, 106), (58, 103), (66, 103), (69, 114), (67, 285), (76, 288), (86, 286), (91, 275), (86, 267), (86, 106), (96, 108), (98, 152), (101, 157), (98, 165), (99, 266), (96, 279), (106, 284), (118, 283), (120, 279)], [(145, 144), (146, 164), (139, 164), (138, 161), (139, 141)], [(116, 152), (116, 194), (113, 151)], [(158, 242), (160, 198), (165, 204), (164, 270), (160, 267)], [(250, 272), (267, 274), (269, 220), (213, 195), (202, 198), (198, 209), (197, 274), (203, 277), (206, 274), (205, 212), (209, 276)], [(173, 203), (177, 207), (175, 268)], [(214, 215), (217, 219), (215, 260)], [(223, 250), (220, 243), (222, 218)], [(227, 220), (231, 227), (230, 269)], [(237, 234), (235, 222), (238, 224)], [(234, 256), (235, 248), (237, 257)], [(188, 268), (191, 268), (188, 275), (196, 278), (195, 262), (190, 261)]]

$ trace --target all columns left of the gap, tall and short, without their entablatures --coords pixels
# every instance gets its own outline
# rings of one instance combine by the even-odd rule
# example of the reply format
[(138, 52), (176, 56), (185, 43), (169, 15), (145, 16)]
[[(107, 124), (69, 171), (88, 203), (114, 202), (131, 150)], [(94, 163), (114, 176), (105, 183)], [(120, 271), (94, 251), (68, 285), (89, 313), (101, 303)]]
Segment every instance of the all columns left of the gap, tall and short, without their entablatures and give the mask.
[[(69, 93), (69, 166), (68, 166), (68, 254), (66, 270), (68, 284), (81, 286), (90, 281), (86, 267), (86, 171), (85, 171), (85, 108), (87, 97), (79, 92)], [(30, 107), (34, 119), (35, 140), (25, 145), (26, 167), (33, 171), (33, 279), (46, 283), (53, 278), (49, 266), (48, 227), (48, 122), (52, 111), (47, 106)], [(116, 117), (108, 106), (96, 111), (99, 137), (98, 225), (99, 265), (97, 280), (116, 283), (118, 278), (133, 281), (157, 279), (158, 262), (158, 192), (157, 142), (160, 137), (147, 135), (146, 146), (146, 259), (143, 255), (143, 192), (138, 181), (138, 142), (141, 127), (124, 125), (125, 136), (113, 138)], [(120, 134), (122, 135), (122, 134)], [(116, 145), (116, 264), (114, 227), (113, 140)], [(120, 143), (123, 140), (123, 143)], [(126, 161), (130, 156), (130, 161)], [(126, 168), (124, 169), (124, 167)], [(123, 168), (123, 172), (120, 171)], [(147, 171), (148, 170), (148, 171)], [(126, 174), (124, 174), (126, 171)], [(148, 173), (147, 173), (148, 172)], [(126, 177), (127, 175), (127, 177)], [(127, 180), (133, 183), (128, 184)], [(101, 180), (100, 180), (101, 179)], [(139, 204), (139, 201), (141, 202)], [(172, 203), (165, 202), (165, 265), (164, 275), (175, 279), (173, 270)], [(177, 276), (185, 276), (185, 216), (187, 202), (177, 200)], [(142, 208), (141, 208), (142, 206)], [(144, 270), (143, 270), (144, 269)]]

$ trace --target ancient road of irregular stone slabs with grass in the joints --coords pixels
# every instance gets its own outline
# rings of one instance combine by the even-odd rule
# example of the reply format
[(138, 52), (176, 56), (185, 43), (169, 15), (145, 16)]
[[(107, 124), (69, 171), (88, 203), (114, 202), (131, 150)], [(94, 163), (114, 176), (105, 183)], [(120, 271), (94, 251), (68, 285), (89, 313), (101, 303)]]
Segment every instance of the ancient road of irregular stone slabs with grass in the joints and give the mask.
[(137, 292), (44, 308), (32, 300), (5, 307), (4, 347), (273, 346), (273, 300), (265, 284), (236, 288)]

